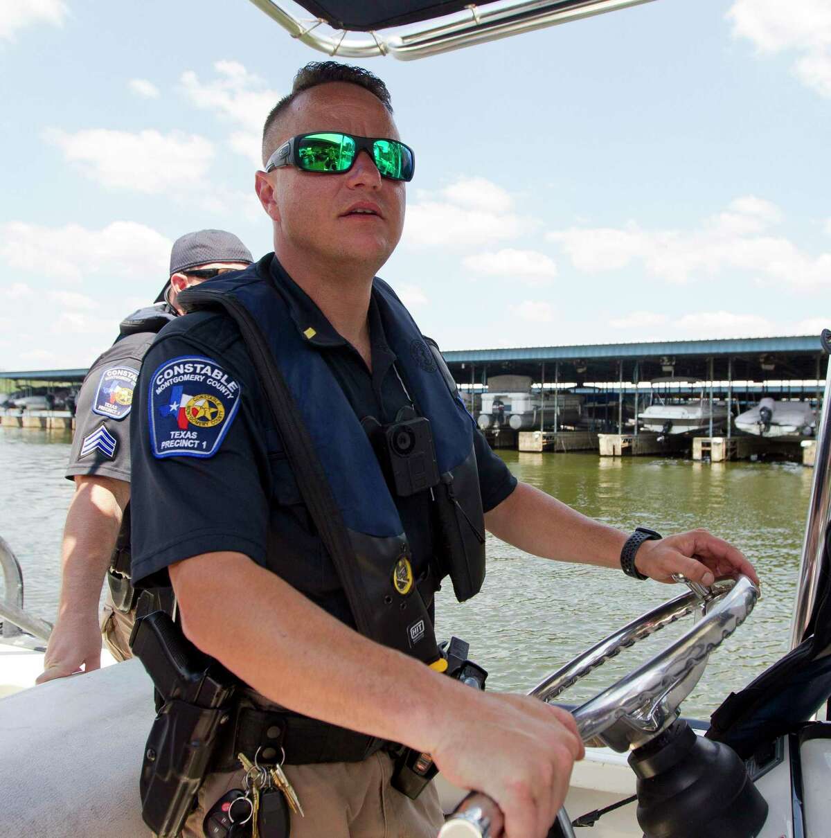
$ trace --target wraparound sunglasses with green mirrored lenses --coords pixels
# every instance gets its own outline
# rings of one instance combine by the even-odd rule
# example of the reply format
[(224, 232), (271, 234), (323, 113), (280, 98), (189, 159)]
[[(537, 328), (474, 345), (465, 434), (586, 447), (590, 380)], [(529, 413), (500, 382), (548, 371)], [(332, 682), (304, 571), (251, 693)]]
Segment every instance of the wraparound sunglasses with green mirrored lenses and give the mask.
[(373, 159), (382, 178), (413, 179), (416, 158), (413, 150), (403, 142), (333, 131), (298, 134), (287, 140), (268, 158), (266, 172), (281, 166), (326, 174), (348, 172), (362, 150)]

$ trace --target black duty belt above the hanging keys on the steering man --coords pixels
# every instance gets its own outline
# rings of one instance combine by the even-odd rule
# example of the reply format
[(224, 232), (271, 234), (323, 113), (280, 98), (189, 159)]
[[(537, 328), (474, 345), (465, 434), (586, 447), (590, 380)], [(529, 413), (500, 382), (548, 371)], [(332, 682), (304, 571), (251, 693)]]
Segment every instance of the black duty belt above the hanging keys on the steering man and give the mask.
[(285, 753), (286, 765), (308, 765), (359, 763), (385, 747), (394, 747), (385, 739), (288, 711), (239, 705), (230, 722), (217, 745), (211, 771), (240, 768), (238, 753), (253, 760), (259, 751), (262, 763), (279, 763)]

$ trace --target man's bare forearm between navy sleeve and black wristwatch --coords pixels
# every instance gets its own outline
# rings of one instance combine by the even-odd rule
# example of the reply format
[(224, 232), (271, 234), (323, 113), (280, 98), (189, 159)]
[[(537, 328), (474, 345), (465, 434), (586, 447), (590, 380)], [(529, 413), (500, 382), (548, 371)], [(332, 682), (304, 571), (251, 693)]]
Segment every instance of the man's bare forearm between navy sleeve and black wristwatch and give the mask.
[(485, 515), (488, 530), (534, 556), (620, 568), (627, 534), (571, 509), (529, 484), (517, 484)]

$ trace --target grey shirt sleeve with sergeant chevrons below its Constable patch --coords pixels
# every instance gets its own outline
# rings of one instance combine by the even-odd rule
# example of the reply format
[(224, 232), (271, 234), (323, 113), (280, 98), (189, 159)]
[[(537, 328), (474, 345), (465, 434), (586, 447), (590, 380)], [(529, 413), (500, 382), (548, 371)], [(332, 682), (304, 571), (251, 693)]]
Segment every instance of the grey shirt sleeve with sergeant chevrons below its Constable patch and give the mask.
[(154, 334), (120, 340), (95, 360), (76, 400), (75, 436), (65, 475), (130, 482), (130, 421), (142, 357)]

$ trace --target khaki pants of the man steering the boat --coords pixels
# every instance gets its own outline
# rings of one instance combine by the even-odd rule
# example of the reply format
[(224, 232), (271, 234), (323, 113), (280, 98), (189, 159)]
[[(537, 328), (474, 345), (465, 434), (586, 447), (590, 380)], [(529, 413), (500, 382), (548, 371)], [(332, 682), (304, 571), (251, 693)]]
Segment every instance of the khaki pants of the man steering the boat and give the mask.
[[(361, 763), (286, 765), (306, 815), (292, 814), (291, 838), (436, 838), (444, 823), (436, 786), (410, 800), (390, 786), (392, 768), (383, 752)], [(205, 779), (183, 838), (204, 838), (205, 815), (230, 789), (242, 789), (242, 778), (240, 769)]]

